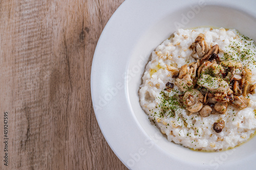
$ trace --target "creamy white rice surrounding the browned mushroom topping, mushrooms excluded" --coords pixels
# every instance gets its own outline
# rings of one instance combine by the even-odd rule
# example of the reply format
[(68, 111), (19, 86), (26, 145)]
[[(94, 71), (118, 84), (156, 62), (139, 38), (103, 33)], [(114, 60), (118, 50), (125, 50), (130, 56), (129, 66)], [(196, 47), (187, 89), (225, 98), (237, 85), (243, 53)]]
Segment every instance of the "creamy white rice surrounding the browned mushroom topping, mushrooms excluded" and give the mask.
[[(167, 82), (175, 83), (168, 66), (181, 68), (184, 64), (196, 62), (191, 57), (193, 51), (189, 46), (200, 33), (204, 34), (207, 44), (219, 45), (220, 60), (232, 56), (243, 67), (251, 69), (252, 82), (256, 80), (255, 45), (249, 38), (233, 29), (179, 29), (174, 37), (166, 39), (152, 53), (139, 90), (140, 104), (169, 141), (194, 150), (226, 150), (236, 147), (253, 135), (256, 128), (256, 93), (248, 94), (250, 103), (247, 108), (240, 110), (228, 105), (225, 114), (210, 114), (208, 117), (202, 117), (198, 112), (188, 115), (187, 110), (177, 104), (178, 101), (166, 100), (174, 94), (182, 93), (177, 86), (170, 92), (164, 90)], [(173, 112), (164, 112), (164, 105)], [(216, 133), (212, 125), (219, 119), (225, 120), (225, 128)]]

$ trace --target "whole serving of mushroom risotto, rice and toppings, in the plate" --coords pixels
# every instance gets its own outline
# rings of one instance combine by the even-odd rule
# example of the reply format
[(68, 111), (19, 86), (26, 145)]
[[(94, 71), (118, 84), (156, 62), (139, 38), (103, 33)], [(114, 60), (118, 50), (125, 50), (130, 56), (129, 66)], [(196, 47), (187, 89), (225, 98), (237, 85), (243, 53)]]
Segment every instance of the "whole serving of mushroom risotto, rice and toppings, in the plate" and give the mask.
[(152, 53), (140, 104), (169, 141), (221, 151), (256, 130), (256, 48), (233, 29), (179, 29)]

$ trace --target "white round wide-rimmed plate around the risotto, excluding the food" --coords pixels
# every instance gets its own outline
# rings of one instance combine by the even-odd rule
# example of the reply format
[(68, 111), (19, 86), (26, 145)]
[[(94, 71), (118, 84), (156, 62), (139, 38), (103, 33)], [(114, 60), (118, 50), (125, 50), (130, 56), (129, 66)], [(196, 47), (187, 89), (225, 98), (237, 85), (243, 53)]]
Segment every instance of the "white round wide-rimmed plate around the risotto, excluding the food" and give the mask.
[(168, 142), (139, 105), (138, 90), (152, 51), (178, 27), (237, 29), (256, 40), (256, 1), (126, 0), (98, 41), (91, 72), (101, 131), (130, 169), (253, 169), (256, 138), (222, 152), (195, 152)]

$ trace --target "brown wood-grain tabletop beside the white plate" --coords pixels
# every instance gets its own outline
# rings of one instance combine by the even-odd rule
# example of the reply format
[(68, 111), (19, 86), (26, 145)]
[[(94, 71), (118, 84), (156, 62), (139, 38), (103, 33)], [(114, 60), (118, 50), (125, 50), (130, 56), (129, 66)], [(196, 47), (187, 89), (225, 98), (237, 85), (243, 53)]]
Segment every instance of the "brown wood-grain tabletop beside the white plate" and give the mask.
[(0, 2), (0, 169), (126, 169), (90, 91), (97, 41), (122, 2)]

